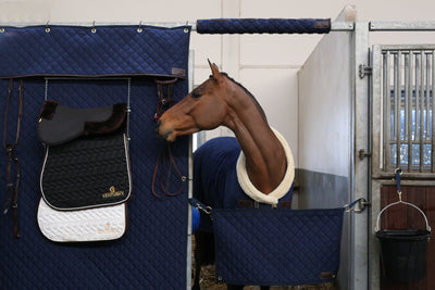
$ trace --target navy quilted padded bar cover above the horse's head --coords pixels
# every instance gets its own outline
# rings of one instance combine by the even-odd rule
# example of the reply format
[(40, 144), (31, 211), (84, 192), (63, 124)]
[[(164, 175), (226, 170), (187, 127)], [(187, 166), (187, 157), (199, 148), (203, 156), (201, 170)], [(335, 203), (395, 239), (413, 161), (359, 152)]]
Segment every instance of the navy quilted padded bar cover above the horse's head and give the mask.
[(331, 20), (214, 18), (198, 20), (198, 34), (327, 34)]

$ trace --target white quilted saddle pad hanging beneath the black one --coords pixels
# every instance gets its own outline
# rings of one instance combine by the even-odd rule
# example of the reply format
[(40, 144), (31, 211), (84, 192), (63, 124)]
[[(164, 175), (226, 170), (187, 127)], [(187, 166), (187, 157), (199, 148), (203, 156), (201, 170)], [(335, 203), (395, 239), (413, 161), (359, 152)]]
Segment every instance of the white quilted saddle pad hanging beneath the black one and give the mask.
[(51, 241), (114, 240), (121, 238), (126, 230), (126, 203), (89, 210), (57, 211), (40, 199), (37, 219), (40, 231)]

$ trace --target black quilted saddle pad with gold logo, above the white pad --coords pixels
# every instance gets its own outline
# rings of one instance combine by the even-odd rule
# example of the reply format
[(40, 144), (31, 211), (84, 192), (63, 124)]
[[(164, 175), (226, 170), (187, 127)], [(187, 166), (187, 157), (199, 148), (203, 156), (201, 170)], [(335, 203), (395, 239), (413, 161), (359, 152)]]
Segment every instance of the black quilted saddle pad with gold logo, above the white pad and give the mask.
[(47, 147), (40, 177), (44, 199), (57, 210), (125, 202), (130, 194), (127, 148), (124, 134)]

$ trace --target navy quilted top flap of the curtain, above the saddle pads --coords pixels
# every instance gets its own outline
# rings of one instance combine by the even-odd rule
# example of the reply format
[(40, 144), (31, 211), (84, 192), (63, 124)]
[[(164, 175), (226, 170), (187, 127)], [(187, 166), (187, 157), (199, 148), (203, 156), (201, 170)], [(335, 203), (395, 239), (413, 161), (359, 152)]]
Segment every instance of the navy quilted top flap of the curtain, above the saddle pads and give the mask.
[[(5, 27), (0, 77), (172, 75), (187, 63), (189, 26)], [(187, 29), (187, 30), (185, 30)], [(32, 46), (32, 47), (29, 47)]]

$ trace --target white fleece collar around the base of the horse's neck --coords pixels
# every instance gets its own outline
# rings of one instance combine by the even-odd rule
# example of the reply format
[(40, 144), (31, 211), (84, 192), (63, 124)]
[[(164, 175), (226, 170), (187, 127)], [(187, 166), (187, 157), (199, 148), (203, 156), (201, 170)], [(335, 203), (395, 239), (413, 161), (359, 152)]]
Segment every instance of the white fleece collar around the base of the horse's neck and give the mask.
[(246, 194), (248, 194), (251, 199), (260, 203), (276, 205), (278, 204), (278, 200), (288, 192), (288, 190), (293, 185), (293, 180), (295, 178), (295, 163), (290, 147), (288, 146), (285, 138), (277, 130), (273, 128), (272, 130), (278, 138), (281, 144), (283, 146), (287, 157), (287, 169), (281, 184), (269, 194), (264, 194), (263, 192), (259, 191), (249, 180), (248, 173), (246, 171), (246, 156), (244, 154), (244, 151), (240, 151), (240, 155), (238, 156), (236, 171), (237, 171), (237, 180)]

